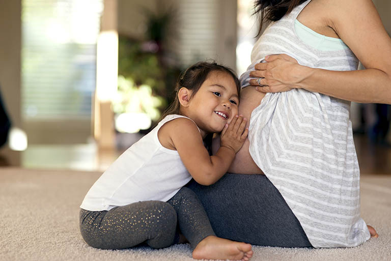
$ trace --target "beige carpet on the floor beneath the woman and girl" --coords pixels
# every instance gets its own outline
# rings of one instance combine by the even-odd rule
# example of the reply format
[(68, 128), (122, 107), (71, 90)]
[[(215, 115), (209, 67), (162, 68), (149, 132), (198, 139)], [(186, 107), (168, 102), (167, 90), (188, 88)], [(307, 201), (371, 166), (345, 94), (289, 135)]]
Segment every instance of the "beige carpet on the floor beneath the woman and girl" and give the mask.
[[(0, 168), (0, 260), (192, 260), (187, 244), (100, 250), (78, 230), (78, 207), (97, 172)], [(361, 177), (361, 213), (380, 237), (355, 248), (254, 246), (252, 260), (391, 260), (391, 176)]]

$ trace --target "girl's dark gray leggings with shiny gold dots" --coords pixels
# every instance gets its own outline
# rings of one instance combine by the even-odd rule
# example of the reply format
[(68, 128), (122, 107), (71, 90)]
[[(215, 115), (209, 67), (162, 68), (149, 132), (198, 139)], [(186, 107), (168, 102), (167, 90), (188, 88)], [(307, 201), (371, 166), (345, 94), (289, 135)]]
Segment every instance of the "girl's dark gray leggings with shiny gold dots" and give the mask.
[(178, 243), (179, 234), (191, 247), (208, 236), (215, 236), (197, 195), (181, 188), (169, 201), (141, 201), (109, 211), (80, 210), (80, 232), (92, 247), (124, 249), (142, 243), (153, 248)]

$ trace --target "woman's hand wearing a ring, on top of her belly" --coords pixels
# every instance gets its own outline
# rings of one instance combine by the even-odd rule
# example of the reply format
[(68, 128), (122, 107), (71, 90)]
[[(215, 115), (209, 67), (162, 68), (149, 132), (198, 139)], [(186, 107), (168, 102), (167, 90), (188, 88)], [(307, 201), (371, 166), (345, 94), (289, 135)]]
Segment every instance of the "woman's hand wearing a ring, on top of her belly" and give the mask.
[(279, 93), (300, 88), (299, 83), (305, 78), (306, 67), (299, 65), (287, 54), (268, 55), (265, 61), (267, 63), (256, 64), (256, 71), (250, 72), (251, 77), (261, 78), (260, 84), (257, 79), (250, 80), (251, 85), (257, 86), (257, 91)]

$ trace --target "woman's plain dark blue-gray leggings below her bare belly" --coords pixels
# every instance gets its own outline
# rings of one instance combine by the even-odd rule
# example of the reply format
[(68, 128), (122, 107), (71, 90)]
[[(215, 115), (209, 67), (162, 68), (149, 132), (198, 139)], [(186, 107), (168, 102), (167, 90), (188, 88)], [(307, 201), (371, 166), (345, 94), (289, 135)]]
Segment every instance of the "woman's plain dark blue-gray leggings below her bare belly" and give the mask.
[(265, 175), (227, 173), (211, 186), (187, 185), (198, 195), (217, 237), (253, 245), (311, 247), (299, 221)]

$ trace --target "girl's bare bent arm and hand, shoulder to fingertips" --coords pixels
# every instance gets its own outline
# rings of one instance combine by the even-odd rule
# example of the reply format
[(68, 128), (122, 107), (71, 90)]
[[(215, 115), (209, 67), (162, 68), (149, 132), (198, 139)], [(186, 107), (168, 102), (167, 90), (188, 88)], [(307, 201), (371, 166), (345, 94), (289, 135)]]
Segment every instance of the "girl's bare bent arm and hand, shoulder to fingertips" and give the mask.
[(248, 133), (245, 125), (246, 119), (234, 117), (222, 130), (221, 147), (214, 156), (209, 156), (200, 131), (192, 121), (179, 118), (167, 127), (170, 127), (172, 143), (193, 179), (201, 185), (211, 185), (227, 172), (242, 147)]

